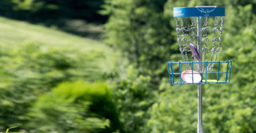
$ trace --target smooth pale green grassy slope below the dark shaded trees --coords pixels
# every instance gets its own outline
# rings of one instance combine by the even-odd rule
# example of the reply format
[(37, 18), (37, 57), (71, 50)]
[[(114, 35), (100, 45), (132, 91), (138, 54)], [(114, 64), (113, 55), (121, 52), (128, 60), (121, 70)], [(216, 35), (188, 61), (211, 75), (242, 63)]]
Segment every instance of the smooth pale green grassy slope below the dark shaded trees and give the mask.
[(0, 48), (4, 45), (15, 48), (17, 45), (29, 42), (41, 44), (46, 48), (76, 48), (85, 53), (100, 51), (103, 53), (103, 57), (99, 57), (100, 59), (97, 60), (99, 60), (98, 65), (103, 71), (113, 69), (115, 62), (119, 60), (119, 53), (114, 52), (102, 41), (71, 35), (56, 28), (0, 17), (0, 29)]

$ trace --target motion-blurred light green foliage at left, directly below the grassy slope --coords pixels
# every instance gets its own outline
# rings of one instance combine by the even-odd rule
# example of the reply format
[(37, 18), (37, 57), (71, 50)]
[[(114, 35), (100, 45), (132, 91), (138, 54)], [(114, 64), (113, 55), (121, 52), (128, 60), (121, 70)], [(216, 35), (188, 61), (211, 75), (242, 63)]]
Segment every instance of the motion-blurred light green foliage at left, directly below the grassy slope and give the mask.
[(27, 112), (29, 103), (62, 81), (103, 77), (93, 60), (102, 54), (95, 51), (82, 53), (77, 49), (44, 49), (40, 45), (25, 44), (15, 49), (2, 47), (1, 54), (0, 72), (4, 77), (1, 78), (1, 101), (5, 102), (0, 104), (0, 120), (4, 126), (22, 122), (20, 115)]

